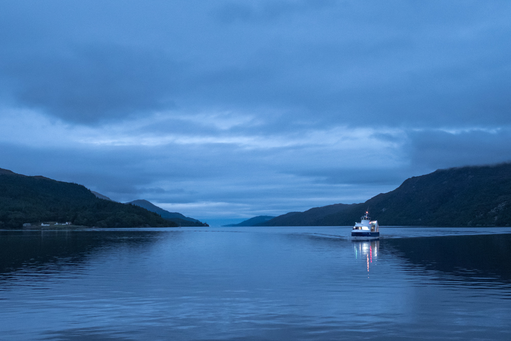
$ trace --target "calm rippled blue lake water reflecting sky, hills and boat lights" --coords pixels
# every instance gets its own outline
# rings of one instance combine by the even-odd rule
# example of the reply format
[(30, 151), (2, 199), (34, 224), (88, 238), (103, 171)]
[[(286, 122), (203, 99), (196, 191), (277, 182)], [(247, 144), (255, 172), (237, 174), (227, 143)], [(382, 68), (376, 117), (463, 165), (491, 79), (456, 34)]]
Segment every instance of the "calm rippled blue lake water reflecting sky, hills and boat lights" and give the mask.
[(511, 339), (511, 229), (349, 233), (0, 231), (0, 339)]

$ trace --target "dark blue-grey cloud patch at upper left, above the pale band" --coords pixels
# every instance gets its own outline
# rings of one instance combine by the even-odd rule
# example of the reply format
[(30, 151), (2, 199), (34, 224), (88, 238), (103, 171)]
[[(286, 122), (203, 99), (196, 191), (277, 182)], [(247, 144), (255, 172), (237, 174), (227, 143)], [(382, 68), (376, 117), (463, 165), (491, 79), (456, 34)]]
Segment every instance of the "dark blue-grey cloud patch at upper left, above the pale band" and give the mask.
[(115, 46), (34, 51), (0, 67), (20, 104), (85, 123), (173, 108), (182, 68), (161, 54)]

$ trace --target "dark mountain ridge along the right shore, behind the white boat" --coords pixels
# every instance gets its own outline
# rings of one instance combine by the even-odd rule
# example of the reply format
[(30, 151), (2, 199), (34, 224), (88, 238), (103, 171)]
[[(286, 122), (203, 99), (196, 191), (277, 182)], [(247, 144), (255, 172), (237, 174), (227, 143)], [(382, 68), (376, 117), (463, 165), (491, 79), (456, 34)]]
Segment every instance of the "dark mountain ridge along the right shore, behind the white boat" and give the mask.
[(257, 225), (353, 225), (367, 209), (386, 226), (509, 226), (511, 164), (439, 169), (363, 203), (291, 212)]

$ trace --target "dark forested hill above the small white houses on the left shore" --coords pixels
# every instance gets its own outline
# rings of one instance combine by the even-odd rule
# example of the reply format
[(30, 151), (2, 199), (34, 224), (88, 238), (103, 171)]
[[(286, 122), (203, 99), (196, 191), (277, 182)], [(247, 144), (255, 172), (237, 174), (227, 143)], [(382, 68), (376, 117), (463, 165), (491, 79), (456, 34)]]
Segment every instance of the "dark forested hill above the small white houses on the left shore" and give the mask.
[(176, 226), (141, 207), (97, 198), (82, 185), (0, 169), (0, 228), (44, 221), (104, 228)]

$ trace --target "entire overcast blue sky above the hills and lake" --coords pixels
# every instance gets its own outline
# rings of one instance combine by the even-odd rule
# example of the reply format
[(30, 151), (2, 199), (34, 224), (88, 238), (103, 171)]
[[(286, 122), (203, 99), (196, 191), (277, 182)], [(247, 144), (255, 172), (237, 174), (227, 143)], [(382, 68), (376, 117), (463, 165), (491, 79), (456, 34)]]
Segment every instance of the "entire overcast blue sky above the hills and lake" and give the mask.
[(213, 224), (511, 160), (509, 1), (0, 2), (0, 168)]

